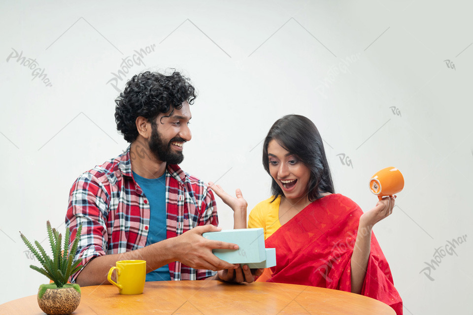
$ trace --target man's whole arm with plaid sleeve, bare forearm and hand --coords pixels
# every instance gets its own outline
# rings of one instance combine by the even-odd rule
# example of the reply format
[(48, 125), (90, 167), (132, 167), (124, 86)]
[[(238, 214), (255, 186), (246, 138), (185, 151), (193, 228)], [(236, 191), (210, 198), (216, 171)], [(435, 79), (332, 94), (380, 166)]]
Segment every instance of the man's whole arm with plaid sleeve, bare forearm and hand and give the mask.
[(74, 239), (78, 225), (83, 226), (75, 259), (82, 259), (84, 266), (71, 277), (71, 282), (75, 280), (80, 285), (102, 284), (106, 282), (108, 270), (116, 261), (127, 259), (146, 260), (147, 272), (172, 261), (210, 270), (236, 268), (212, 253), (212, 249), (236, 249), (235, 244), (202, 237), (205, 232), (220, 230), (213, 225), (198, 226), (177, 237), (135, 251), (107, 255), (108, 202), (109, 193), (105, 186), (89, 172), (82, 174), (71, 188), (66, 225), (71, 232), (71, 239)]

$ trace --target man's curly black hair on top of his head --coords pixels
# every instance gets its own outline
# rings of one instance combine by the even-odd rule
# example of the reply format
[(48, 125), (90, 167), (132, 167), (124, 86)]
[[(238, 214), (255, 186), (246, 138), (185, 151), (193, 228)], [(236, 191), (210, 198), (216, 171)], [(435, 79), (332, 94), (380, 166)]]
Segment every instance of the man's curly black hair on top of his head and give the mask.
[(177, 71), (171, 75), (146, 71), (133, 76), (115, 99), (115, 122), (125, 140), (131, 143), (138, 137), (138, 116), (154, 124), (160, 113), (180, 109), (185, 101), (193, 104), (197, 95), (189, 81)]

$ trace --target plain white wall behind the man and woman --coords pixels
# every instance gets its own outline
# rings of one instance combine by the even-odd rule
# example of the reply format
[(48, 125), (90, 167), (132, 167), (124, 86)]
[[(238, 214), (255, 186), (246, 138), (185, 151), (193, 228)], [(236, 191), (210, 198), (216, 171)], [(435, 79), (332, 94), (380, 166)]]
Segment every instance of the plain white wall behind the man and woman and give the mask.
[[(374, 232), (405, 314), (471, 312), (470, 2), (56, 2), (0, 4), (0, 303), (46, 281), (28, 268), (37, 262), (18, 231), (43, 240), (46, 220), (62, 230), (75, 178), (127, 147), (107, 81), (122, 58), (154, 45), (119, 88), (144, 69), (191, 77), (199, 97), (185, 170), (215, 181), (230, 169), (219, 184), (241, 188), (251, 209), (269, 196), (260, 141), (279, 117), (305, 115), (325, 140), (337, 192), (365, 211), (376, 202), (374, 172), (393, 165), (404, 173), (399, 207)], [(13, 49), (35, 59), (52, 86), (7, 62)], [(231, 228), (231, 209), (218, 205), (221, 226)], [(465, 234), (429, 280), (424, 262)]]

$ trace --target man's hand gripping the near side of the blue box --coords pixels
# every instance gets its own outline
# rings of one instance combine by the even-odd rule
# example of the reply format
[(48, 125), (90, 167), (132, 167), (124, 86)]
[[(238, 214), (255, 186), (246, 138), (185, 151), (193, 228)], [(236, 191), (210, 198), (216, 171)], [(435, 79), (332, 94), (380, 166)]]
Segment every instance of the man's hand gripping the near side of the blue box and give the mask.
[(221, 231), (214, 225), (196, 226), (174, 238), (175, 260), (195, 269), (222, 270), (235, 269), (237, 265), (219, 259), (212, 253), (213, 249), (237, 250), (233, 243), (212, 241), (202, 237), (205, 232)]

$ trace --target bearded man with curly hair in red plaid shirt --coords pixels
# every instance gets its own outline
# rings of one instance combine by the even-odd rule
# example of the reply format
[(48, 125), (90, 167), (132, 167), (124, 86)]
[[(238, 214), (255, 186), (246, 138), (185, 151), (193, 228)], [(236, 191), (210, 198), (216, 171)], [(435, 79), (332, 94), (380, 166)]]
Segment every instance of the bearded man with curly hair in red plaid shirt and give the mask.
[(83, 266), (71, 282), (108, 283), (110, 267), (127, 259), (146, 260), (147, 281), (253, 281), (246, 266), (212, 254), (238, 247), (202, 237), (220, 230), (214, 196), (177, 165), (191, 140), (189, 104), (196, 96), (179, 72), (144, 72), (115, 100), (117, 129), (131, 145), (83, 173), (70, 190), (66, 225), (73, 239), (82, 224), (75, 259)]

